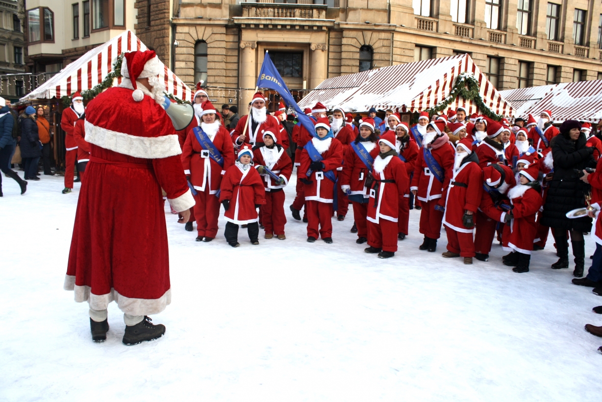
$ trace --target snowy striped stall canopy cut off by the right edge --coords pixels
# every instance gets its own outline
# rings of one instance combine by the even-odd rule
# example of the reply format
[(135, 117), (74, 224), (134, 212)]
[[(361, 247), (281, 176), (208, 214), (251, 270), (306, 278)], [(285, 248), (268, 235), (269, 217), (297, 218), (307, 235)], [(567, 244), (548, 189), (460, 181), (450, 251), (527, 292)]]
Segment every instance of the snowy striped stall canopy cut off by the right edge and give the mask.
[(597, 123), (602, 119), (602, 79), (563, 82), (533, 105), (527, 113), (538, 116), (542, 110), (552, 112), (554, 123), (582, 120)]

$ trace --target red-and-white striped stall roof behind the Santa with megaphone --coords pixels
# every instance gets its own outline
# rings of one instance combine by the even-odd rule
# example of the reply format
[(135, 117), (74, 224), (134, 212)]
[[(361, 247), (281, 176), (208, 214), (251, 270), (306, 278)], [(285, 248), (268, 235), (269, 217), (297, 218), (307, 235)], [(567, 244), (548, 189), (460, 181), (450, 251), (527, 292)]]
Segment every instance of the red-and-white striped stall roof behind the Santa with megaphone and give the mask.
[[(111, 72), (113, 63), (115, 63), (119, 54), (146, 49), (144, 43), (140, 42), (134, 32), (124, 31), (107, 43), (88, 51), (20, 100), (60, 98), (75, 91), (91, 89), (100, 84)], [(191, 101), (193, 92), (190, 88), (163, 63), (161, 64), (164, 68), (159, 77), (164, 79), (167, 92), (179, 99)], [(113, 85), (118, 85), (120, 82), (121, 78), (115, 79)]]

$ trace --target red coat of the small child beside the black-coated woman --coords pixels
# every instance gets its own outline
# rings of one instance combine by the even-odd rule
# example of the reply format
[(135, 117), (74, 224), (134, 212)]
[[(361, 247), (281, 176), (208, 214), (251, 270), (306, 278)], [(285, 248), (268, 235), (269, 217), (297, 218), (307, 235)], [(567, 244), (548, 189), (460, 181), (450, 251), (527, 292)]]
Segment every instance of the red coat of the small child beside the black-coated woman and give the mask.
[(507, 235), (510, 249), (523, 254), (531, 254), (533, 240), (537, 234), (535, 214), (542, 205), (541, 195), (530, 186), (518, 184), (510, 188), (508, 198), (514, 205), (512, 209), (514, 218), (507, 225), (510, 229), (504, 228), (503, 235)]

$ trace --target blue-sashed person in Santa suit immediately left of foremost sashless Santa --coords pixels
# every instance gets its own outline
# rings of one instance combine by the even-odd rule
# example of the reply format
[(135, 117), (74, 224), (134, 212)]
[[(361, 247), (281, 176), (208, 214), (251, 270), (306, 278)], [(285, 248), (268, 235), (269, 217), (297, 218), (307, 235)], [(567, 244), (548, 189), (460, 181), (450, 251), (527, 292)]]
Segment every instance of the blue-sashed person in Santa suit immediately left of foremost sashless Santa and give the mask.
[(343, 171), (341, 172), (341, 190), (349, 194), (349, 200), (353, 206), (353, 217), (358, 229), (357, 244), (368, 241), (368, 226), (366, 217), (368, 215), (368, 197), (370, 197), (370, 185), (366, 180), (370, 176), (374, 164), (374, 158), (380, 152), (376, 144), (378, 139), (374, 132), (374, 120), (367, 117), (359, 123), (359, 135), (350, 145), (349, 152), (345, 155)]

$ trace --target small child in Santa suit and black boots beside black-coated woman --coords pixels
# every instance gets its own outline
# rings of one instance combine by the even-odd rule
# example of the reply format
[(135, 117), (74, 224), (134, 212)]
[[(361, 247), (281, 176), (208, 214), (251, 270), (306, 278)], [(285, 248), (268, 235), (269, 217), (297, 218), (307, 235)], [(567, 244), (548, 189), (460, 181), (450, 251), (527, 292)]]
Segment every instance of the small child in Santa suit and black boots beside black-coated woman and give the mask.
[(514, 272), (529, 272), (529, 261), (533, 250), (533, 240), (537, 233), (535, 214), (542, 205), (539, 192), (539, 169), (532, 164), (518, 173), (520, 183), (508, 191), (512, 210), (504, 216), (507, 222), (504, 237), (507, 237), (507, 249), (510, 254), (503, 257), (504, 265)]

